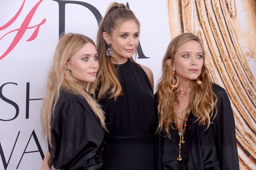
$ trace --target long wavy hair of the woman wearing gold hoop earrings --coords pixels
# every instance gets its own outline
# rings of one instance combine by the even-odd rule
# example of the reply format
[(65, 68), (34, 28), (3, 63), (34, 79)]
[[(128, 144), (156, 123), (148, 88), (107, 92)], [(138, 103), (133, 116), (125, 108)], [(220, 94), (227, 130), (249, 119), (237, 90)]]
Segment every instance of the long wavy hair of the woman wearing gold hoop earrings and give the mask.
[[(176, 84), (177, 80), (172, 76), (172, 67), (167, 65), (167, 59), (170, 59), (169, 65), (173, 65), (174, 55), (176, 50), (187, 41), (197, 41), (201, 47), (200, 39), (192, 33), (183, 33), (175, 37), (169, 44), (162, 63), (162, 77), (157, 83), (157, 100), (158, 100), (158, 113), (159, 113), (159, 125), (157, 132), (161, 132), (164, 128), (167, 136), (170, 138), (169, 127), (174, 122), (176, 117), (176, 107), (178, 103), (177, 96), (180, 89), (173, 89), (171, 84)], [(202, 47), (203, 49), (203, 47)], [(191, 92), (189, 97), (189, 104), (186, 109), (187, 113), (192, 112), (196, 117), (196, 121), (199, 121), (200, 125), (207, 124), (209, 127), (212, 120), (217, 114), (217, 96), (212, 90), (212, 81), (209, 77), (208, 69), (205, 65), (205, 51), (203, 50), (203, 67), (201, 70), (201, 86), (196, 85), (193, 81), (191, 86)], [(214, 114), (215, 111), (215, 114)], [(187, 115), (188, 117), (188, 115)], [(186, 118), (184, 118), (186, 119)], [(195, 122), (196, 122), (195, 121)]]

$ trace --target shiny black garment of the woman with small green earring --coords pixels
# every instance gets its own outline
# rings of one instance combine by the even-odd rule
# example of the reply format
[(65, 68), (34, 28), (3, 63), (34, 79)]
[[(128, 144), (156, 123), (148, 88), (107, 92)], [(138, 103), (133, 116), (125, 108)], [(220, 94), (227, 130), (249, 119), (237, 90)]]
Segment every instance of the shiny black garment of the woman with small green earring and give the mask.
[(99, 119), (84, 98), (60, 91), (51, 124), (53, 147), (48, 148), (54, 168), (101, 169), (104, 134)]

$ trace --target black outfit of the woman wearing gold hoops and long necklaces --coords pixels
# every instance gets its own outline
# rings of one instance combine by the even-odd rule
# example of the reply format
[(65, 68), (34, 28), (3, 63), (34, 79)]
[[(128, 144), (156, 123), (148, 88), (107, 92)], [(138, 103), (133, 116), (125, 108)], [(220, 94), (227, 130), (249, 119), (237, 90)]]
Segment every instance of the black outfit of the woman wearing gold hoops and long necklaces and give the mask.
[[(238, 151), (236, 144), (234, 115), (227, 92), (213, 83), (213, 91), (218, 96), (218, 113), (213, 124), (206, 126), (194, 124), (195, 117), (190, 114), (185, 143), (181, 145), (182, 161), (176, 159), (179, 153), (177, 130), (169, 130), (173, 141), (161, 137), (161, 164), (163, 170), (239, 170)], [(190, 127), (190, 128), (189, 128)], [(178, 140), (178, 141), (177, 141)]]

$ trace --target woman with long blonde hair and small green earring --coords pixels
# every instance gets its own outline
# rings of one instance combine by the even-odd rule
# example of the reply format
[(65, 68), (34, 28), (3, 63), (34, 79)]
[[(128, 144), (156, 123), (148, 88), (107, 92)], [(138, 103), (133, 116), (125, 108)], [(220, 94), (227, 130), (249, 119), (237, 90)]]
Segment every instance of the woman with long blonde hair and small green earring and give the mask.
[(104, 112), (83, 88), (96, 80), (98, 67), (91, 38), (74, 33), (60, 38), (41, 110), (42, 130), (56, 169), (95, 170), (103, 165)]

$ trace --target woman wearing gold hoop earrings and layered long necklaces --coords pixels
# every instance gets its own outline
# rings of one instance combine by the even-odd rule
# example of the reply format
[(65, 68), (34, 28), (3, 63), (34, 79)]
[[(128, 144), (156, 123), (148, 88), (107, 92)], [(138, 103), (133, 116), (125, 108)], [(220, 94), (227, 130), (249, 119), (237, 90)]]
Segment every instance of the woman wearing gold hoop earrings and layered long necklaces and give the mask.
[(192, 33), (175, 37), (165, 53), (155, 94), (163, 170), (239, 170), (229, 97), (211, 82), (204, 58)]

